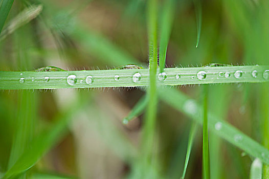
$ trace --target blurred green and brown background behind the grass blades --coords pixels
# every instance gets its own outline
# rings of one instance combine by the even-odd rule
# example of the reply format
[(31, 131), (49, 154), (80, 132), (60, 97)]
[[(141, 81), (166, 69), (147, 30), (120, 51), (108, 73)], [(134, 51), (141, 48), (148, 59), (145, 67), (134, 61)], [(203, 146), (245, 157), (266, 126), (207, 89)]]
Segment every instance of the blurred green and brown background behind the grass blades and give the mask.
[[(161, 12), (163, 1), (159, 2)], [(32, 71), (50, 65), (65, 70), (113, 69), (128, 63), (147, 67), (146, 1), (15, 1), (6, 24), (39, 4), (43, 5), (40, 15), (0, 41), (1, 71)], [(201, 4), (201, 36), (195, 48), (193, 1), (176, 1), (168, 67), (212, 62), (268, 65), (267, 1), (205, 0)], [(177, 87), (197, 101), (203, 96), (200, 88)], [(209, 110), (264, 143), (267, 89), (261, 84), (210, 85)], [(144, 115), (127, 125), (122, 120), (144, 93), (138, 88), (2, 91), (0, 172), (3, 175), (31, 149), (33, 155), (46, 154), (37, 154), (40, 160), (20, 177), (135, 177), (133, 173), (143, 170), (135, 158), (140, 153)], [(191, 120), (161, 101), (157, 117), (156, 173), (160, 178), (180, 178)], [(199, 126), (186, 178), (201, 177), (201, 141)], [(212, 178), (249, 177), (250, 156), (210, 131), (209, 145)], [(31, 163), (30, 156), (26, 163)]]

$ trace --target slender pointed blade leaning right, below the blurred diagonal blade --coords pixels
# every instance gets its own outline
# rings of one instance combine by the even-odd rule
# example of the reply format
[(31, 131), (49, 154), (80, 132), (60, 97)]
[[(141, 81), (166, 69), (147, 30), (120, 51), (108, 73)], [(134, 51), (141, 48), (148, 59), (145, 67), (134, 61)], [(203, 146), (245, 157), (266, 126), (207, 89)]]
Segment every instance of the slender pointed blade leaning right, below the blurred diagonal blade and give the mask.
[(191, 129), (190, 129), (190, 134), (189, 134), (189, 140), (188, 140), (188, 147), (187, 147), (187, 153), (186, 153), (186, 159), (185, 159), (185, 164), (184, 164), (184, 170), (182, 174), (182, 179), (185, 178), (189, 159), (190, 159), (190, 154), (191, 154), (191, 149), (192, 149), (192, 144), (193, 144), (193, 139), (197, 131), (197, 123), (192, 122)]

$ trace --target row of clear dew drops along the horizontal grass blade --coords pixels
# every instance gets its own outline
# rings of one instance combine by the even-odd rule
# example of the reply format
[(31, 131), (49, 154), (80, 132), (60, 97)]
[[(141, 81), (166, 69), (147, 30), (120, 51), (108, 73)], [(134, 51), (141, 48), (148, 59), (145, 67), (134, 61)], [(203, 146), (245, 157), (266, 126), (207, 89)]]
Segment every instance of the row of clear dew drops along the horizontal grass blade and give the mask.
[[(23, 73), (21, 73), (20, 75), (23, 75)], [(238, 71), (236, 71), (236, 72), (234, 73), (234, 77), (237, 78), (237, 79), (241, 78), (242, 75), (243, 75), (243, 71), (241, 71), (241, 70), (238, 70)], [(252, 77), (257, 78), (257, 76), (258, 76), (258, 72), (257, 72), (257, 70), (253, 70), (253, 71), (251, 72), (251, 75), (252, 75)], [(231, 74), (230, 74), (230, 72), (226, 72), (226, 73), (224, 73), (224, 72), (219, 72), (219, 73), (218, 73), (218, 76), (219, 76), (219, 77), (223, 77), (223, 76), (224, 76), (225, 78), (229, 78), (229, 77), (231, 76)], [(268, 79), (269, 79), (269, 70), (265, 70), (262, 76), (263, 76), (263, 78), (264, 78), (265, 80), (268, 80)], [(200, 71), (200, 72), (197, 73), (197, 78), (198, 78), (199, 80), (204, 80), (204, 79), (206, 79), (206, 77), (207, 77), (207, 73), (206, 73), (205, 71)], [(162, 73), (160, 73), (160, 74), (158, 75), (158, 79), (159, 79), (160, 81), (165, 81), (166, 78), (167, 78), (167, 74), (166, 74), (165, 72), (162, 72)], [(181, 78), (181, 75), (180, 75), (180, 74), (176, 74), (176, 75), (175, 75), (175, 79), (180, 79), (180, 78)], [(194, 78), (194, 77), (192, 77), (192, 78)], [(115, 79), (116, 81), (119, 81), (119, 80), (120, 80), (120, 76), (119, 76), (119, 75), (115, 75), (115, 76), (114, 76), (114, 79)], [(132, 76), (132, 81), (133, 81), (133, 82), (138, 83), (140, 80), (141, 80), (141, 74), (140, 74), (140, 73), (135, 73), (135, 74)], [(32, 78), (32, 81), (34, 81), (34, 77)], [(44, 81), (45, 81), (45, 82), (50, 81), (50, 77), (48, 77), (48, 76), (44, 77)], [(22, 78), (19, 79), (19, 83), (22, 84), (22, 83), (24, 83), (24, 82), (25, 82), (25, 78), (22, 77)], [(67, 82), (69, 85), (75, 85), (75, 84), (77, 83), (77, 77), (76, 77), (76, 75), (69, 75), (69, 76), (67, 77), (67, 79), (66, 79), (66, 82)], [(80, 83), (82, 83), (82, 82), (83, 82), (83, 80), (80, 80)], [(93, 78), (93, 76), (87, 76), (87, 77), (85, 78), (85, 82), (86, 82), (87, 84), (93, 84), (93, 82), (94, 82), (94, 78)]]

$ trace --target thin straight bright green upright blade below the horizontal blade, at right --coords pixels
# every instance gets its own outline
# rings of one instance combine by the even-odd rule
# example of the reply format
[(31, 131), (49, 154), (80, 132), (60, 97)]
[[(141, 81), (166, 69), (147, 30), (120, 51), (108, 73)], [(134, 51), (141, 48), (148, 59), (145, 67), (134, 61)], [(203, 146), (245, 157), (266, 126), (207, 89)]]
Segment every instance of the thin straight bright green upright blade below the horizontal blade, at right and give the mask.
[(209, 145), (208, 145), (208, 86), (204, 86), (204, 121), (203, 121), (203, 178), (210, 178), (209, 170)]

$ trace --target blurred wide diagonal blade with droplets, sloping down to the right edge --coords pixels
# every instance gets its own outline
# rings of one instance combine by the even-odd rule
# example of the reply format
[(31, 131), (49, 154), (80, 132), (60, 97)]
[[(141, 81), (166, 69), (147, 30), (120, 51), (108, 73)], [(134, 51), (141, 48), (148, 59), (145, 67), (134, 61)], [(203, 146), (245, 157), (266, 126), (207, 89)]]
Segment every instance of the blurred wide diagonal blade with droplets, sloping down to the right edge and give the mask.
[[(165, 87), (159, 88), (159, 97), (162, 101), (168, 103), (175, 109), (181, 111), (193, 120), (202, 124), (201, 116), (203, 116), (203, 109), (195, 100), (190, 99), (182, 92), (176, 89), (168, 89)], [(166, 94), (163, 96), (162, 94)], [(269, 164), (269, 151), (246, 136), (243, 132), (233, 127), (231, 124), (220, 120), (212, 113), (208, 113), (208, 127), (216, 135), (237, 146), (249, 155), (259, 158), (263, 163)]]

